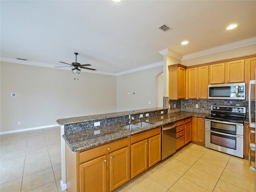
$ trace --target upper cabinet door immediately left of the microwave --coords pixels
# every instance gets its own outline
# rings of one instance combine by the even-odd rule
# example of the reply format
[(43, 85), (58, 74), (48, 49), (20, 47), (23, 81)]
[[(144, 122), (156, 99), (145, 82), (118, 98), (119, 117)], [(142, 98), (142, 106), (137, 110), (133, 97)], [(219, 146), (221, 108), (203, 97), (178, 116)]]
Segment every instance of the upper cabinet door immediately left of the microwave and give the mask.
[(208, 99), (208, 66), (198, 67), (198, 99)]

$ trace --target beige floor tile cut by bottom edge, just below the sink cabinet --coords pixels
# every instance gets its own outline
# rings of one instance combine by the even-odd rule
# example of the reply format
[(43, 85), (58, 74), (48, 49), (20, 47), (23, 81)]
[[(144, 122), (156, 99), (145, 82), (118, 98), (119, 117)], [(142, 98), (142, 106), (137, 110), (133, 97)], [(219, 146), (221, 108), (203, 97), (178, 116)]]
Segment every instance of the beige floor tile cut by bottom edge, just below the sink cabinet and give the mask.
[(147, 174), (128, 184), (128, 186), (134, 192), (166, 192), (168, 190)]

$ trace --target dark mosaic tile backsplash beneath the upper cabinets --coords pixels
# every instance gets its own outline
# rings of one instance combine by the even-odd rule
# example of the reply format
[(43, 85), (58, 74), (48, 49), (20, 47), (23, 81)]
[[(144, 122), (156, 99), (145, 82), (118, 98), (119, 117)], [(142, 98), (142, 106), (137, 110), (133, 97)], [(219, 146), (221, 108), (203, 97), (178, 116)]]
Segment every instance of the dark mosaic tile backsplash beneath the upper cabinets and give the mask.
[[(249, 102), (246, 100), (195, 100), (195, 99), (184, 99), (184, 100), (169, 100), (170, 107), (168, 113), (187, 111), (187, 112), (198, 112), (198, 113), (211, 113), (211, 105), (224, 105), (224, 106), (243, 106), (246, 107), (246, 117), (248, 117)], [(174, 108), (175, 104), (175, 108)], [(196, 108), (198, 105), (198, 108)], [(255, 118), (255, 101), (252, 101), (252, 118)]]

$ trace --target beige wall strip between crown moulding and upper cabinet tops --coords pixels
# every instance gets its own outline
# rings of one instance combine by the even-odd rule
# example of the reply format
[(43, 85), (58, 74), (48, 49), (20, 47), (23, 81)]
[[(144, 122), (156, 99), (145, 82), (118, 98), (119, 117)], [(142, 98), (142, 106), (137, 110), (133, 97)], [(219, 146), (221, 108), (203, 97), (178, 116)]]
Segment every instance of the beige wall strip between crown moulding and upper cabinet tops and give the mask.
[(226, 51), (222, 51), (214, 54), (209, 54), (202, 57), (182, 60), (181, 64), (186, 66), (191, 66), (191, 65), (197, 65), (197, 64), (202, 64), (202, 63), (207, 63), (212, 61), (251, 55), (251, 54), (256, 54), (256, 44), (243, 46), (243, 47), (239, 47), (231, 50), (226, 50)]

